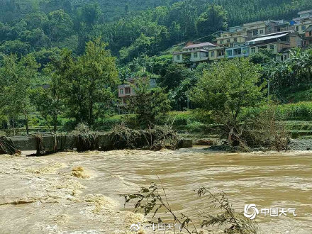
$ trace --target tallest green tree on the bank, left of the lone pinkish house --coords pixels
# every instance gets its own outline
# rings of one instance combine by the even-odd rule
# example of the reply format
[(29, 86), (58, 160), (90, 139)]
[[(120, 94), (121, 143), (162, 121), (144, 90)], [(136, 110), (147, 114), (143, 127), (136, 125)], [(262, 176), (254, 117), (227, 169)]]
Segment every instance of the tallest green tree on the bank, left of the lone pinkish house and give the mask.
[(60, 75), (66, 77), (69, 117), (91, 126), (101, 112), (112, 105), (118, 85), (116, 58), (98, 38), (87, 43), (84, 55), (74, 60), (70, 53), (62, 60)]

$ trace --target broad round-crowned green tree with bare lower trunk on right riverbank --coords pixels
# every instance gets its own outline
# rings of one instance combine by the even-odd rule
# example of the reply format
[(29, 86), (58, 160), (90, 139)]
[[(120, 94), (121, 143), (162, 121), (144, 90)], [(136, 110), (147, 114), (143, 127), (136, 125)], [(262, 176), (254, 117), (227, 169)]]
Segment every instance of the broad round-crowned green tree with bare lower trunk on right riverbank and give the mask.
[(245, 58), (214, 63), (190, 93), (196, 105), (211, 111), (216, 123), (225, 127), (230, 145), (238, 143), (241, 135), (243, 108), (259, 106), (264, 99), (259, 69)]

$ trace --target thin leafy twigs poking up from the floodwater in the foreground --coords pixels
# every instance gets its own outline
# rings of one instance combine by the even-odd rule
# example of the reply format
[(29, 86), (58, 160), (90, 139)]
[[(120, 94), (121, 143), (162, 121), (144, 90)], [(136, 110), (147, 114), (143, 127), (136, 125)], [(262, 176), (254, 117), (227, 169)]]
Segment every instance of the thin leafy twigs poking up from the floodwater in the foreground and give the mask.
[[(160, 188), (157, 184), (152, 183), (148, 187), (142, 187), (138, 193), (123, 196), (125, 206), (130, 204), (134, 206), (135, 212), (142, 211), (145, 216), (151, 214), (152, 220), (157, 220), (157, 223), (162, 223), (161, 213), (169, 213), (174, 223), (178, 223), (186, 233), (201, 233), (196, 225), (200, 225), (200, 228), (216, 227), (223, 230), (224, 233), (257, 233), (257, 223), (245, 218), (243, 213), (236, 213), (223, 191), (211, 192), (201, 187), (197, 190), (197, 194), (200, 199), (207, 201), (205, 204), (207, 208), (198, 212), (199, 216), (196, 217), (196, 220), (191, 219), (184, 213), (178, 214), (171, 208), (161, 181)], [(213, 211), (221, 213), (215, 215), (212, 214)], [(152, 223), (152, 220), (150, 223)]]

